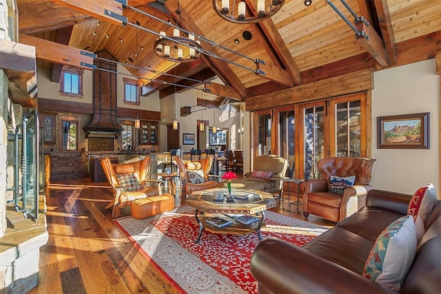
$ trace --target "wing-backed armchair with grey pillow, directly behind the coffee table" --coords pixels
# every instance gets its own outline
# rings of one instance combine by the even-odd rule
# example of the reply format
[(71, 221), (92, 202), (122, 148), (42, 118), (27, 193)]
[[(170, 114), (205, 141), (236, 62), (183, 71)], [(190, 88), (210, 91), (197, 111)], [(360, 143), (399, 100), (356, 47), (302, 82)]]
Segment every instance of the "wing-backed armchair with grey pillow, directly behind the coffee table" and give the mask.
[(183, 160), (181, 156), (176, 156), (174, 160), (178, 165), (182, 182), (181, 203), (185, 201), (187, 195), (194, 191), (216, 187), (215, 180), (208, 180), (209, 171), (212, 169), (214, 161), (213, 154), (208, 154), (207, 158), (198, 161)]

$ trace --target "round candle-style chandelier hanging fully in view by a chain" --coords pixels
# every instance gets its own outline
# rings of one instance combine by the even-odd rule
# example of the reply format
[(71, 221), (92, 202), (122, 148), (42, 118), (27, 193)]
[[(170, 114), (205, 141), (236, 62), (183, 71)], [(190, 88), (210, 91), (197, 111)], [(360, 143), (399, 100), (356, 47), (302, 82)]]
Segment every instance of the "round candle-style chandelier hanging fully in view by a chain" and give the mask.
[[(182, 23), (179, 1), (176, 14), (178, 14), (179, 21)], [(176, 25), (178, 24), (176, 23)], [(154, 52), (161, 58), (173, 62), (189, 62), (198, 59), (201, 56), (201, 41), (195, 41), (194, 34), (188, 34), (188, 36), (181, 36), (180, 34), (181, 31), (177, 28), (173, 30), (173, 36), (167, 36), (165, 32), (159, 32), (159, 38), (156, 39), (153, 45)]]

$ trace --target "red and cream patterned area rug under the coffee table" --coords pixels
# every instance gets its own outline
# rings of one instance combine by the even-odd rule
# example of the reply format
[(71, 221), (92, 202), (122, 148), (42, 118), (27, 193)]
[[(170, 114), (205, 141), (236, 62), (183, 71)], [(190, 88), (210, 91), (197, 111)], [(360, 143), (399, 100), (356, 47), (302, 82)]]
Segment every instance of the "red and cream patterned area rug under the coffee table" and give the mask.
[[(327, 230), (310, 222), (265, 211), (262, 238), (273, 236), (302, 246)], [(222, 235), (203, 231), (194, 209), (183, 206), (160, 216), (114, 222), (180, 293), (257, 293), (249, 260), (258, 244), (257, 233)]]

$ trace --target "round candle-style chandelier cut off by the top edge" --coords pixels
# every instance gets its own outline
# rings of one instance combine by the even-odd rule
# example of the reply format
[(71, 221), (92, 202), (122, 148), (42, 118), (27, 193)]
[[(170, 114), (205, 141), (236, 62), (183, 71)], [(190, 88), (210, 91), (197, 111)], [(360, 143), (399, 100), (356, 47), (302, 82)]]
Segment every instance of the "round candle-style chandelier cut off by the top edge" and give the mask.
[[(282, 8), (285, 0), (254, 0), (256, 4), (251, 9), (256, 10), (257, 15), (255, 16), (246, 15), (247, 4), (245, 1), (222, 0), (221, 7), (218, 6), (218, 2), (218, 0), (212, 0), (213, 9), (226, 21), (231, 21), (232, 23), (257, 23), (276, 14)], [(232, 5), (230, 5), (230, 2), (232, 2)]]

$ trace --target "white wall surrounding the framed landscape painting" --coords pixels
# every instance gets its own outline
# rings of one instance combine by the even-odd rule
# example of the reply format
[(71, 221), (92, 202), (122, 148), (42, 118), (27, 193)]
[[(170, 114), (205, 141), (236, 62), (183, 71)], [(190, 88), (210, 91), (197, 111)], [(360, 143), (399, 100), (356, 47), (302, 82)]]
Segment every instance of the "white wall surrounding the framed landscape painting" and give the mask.
[[(372, 157), (376, 189), (414, 193), (432, 182), (440, 188), (440, 77), (435, 59), (375, 72)], [(430, 112), (430, 149), (377, 149), (377, 116)]]

